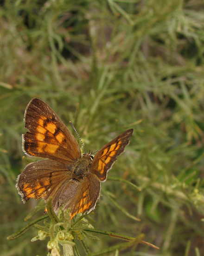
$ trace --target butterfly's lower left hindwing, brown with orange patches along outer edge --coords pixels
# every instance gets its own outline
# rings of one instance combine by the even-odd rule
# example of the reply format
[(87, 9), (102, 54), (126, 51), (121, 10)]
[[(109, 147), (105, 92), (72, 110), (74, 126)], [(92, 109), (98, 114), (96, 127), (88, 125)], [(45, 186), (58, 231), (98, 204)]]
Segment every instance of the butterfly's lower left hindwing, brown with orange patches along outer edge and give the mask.
[(71, 177), (72, 171), (68, 169), (67, 164), (42, 160), (26, 165), (25, 170), (17, 178), (16, 188), (24, 203), (30, 198), (38, 200), (41, 197), (46, 202), (53, 196), (56, 211), (58, 195)]

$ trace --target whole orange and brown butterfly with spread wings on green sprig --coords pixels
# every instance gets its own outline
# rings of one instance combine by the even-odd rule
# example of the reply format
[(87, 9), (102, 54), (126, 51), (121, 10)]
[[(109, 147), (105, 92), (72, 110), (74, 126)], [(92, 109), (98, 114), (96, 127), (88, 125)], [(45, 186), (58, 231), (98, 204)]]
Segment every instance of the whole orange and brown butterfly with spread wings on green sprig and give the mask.
[(79, 144), (56, 113), (44, 102), (32, 99), (25, 111), (26, 128), (22, 148), (26, 155), (48, 158), (29, 163), (18, 176), (16, 188), (22, 201), (52, 196), (55, 212), (70, 208), (70, 217), (90, 212), (96, 206), (101, 182), (116, 157), (129, 144), (133, 129), (110, 141), (95, 157), (81, 155)]

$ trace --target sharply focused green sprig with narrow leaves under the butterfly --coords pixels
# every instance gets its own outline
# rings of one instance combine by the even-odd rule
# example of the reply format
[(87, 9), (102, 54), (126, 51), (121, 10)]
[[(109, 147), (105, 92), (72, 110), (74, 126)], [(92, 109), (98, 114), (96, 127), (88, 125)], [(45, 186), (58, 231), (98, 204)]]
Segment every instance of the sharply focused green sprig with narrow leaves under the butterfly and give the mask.
[[(47, 243), (47, 249), (49, 251), (48, 256), (54, 256), (54, 255), (60, 256), (59, 245), (62, 245), (63, 247), (64, 256), (73, 256), (74, 255), (73, 248), (76, 254), (78, 255), (77, 245), (76, 245), (76, 242), (74, 242), (76, 240), (80, 240), (81, 243), (83, 244), (85, 251), (89, 253), (89, 248), (86, 245), (86, 242), (83, 241), (83, 239), (88, 237), (90, 239), (99, 240), (97, 236), (93, 235), (93, 233), (97, 235), (115, 237), (115, 238), (119, 238), (129, 242), (108, 247), (96, 253), (89, 253), (89, 256), (108, 255), (109, 253), (112, 253), (116, 250), (119, 251), (119, 250), (127, 249), (133, 246), (135, 249), (135, 246), (138, 243), (148, 244), (145, 241), (142, 241), (142, 239), (144, 238), (144, 234), (141, 234), (140, 236), (134, 239), (132, 237), (121, 236), (120, 234), (116, 234), (113, 232), (96, 230), (91, 224), (89, 224), (89, 222), (87, 221), (87, 219), (84, 218), (84, 216), (77, 218), (75, 222), (71, 222), (69, 210), (60, 209), (56, 216), (54, 210), (52, 209), (52, 197), (48, 199), (46, 208), (51, 218), (50, 223), (46, 222), (46, 220), (49, 218), (48, 215), (43, 217), (41, 216), (38, 219), (35, 219), (34, 221), (28, 223), (25, 227), (20, 229), (17, 233), (11, 236), (8, 236), (7, 239), (13, 240), (15, 238), (18, 238), (19, 236), (22, 236), (28, 229), (31, 229), (34, 226), (39, 231), (38, 231), (38, 236), (35, 236), (31, 239), (32, 242), (37, 240), (44, 241), (46, 237), (48, 236), (50, 237), (50, 241)], [(34, 210), (34, 212), (36, 213), (36, 210)], [(26, 217), (26, 219), (28, 219), (28, 216)], [(44, 221), (44, 225), (38, 225), (38, 223), (42, 221)], [(153, 245), (151, 246), (156, 248)]]

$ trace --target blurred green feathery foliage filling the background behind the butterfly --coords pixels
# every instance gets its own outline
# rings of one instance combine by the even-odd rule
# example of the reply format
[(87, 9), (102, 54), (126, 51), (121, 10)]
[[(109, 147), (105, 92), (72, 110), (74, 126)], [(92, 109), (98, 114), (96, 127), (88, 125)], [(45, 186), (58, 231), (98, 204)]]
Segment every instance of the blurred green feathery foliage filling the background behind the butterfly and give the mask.
[[(108, 177), (142, 190), (103, 183), (95, 229), (160, 247), (133, 256), (204, 255), (204, 1), (0, 1), (0, 256), (47, 255), (30, 242), (36, 229), (6, 240), (37, 203), (15, 189), (33, 97), (72, 121), (87, 151), (134, 128)], [(91, 252), (121, 243), (100, 239)]]

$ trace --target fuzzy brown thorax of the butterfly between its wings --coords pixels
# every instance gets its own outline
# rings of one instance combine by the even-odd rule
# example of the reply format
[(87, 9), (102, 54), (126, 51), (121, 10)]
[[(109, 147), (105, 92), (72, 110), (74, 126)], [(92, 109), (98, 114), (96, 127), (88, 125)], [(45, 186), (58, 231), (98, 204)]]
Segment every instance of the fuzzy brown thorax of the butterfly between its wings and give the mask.
[(90, 154), (84, 154), (82, 158), (79, 158), (74, 165), (73, 178), (76, 180), (83, 180), (89, 173), (89, 167), (92, 162), (92, 156)]

